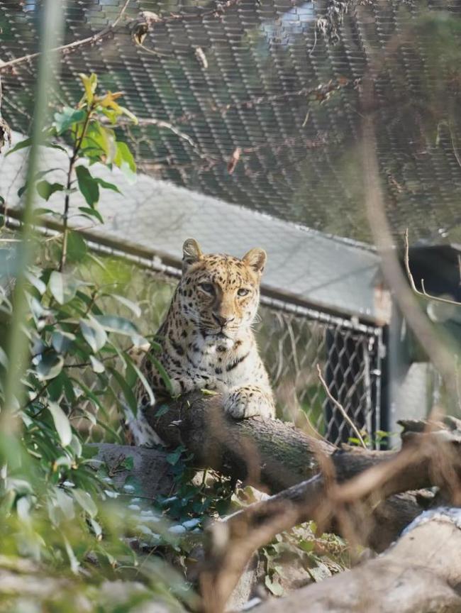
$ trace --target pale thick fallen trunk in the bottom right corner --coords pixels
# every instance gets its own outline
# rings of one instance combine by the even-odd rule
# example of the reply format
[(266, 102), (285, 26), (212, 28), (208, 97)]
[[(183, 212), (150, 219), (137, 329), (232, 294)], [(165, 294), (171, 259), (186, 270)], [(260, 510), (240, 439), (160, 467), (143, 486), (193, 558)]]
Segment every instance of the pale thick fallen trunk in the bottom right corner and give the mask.
[(350, 572), (258, 607), (260, 613), (459, 613), (461, 510), (435, 509), (395, 546)]

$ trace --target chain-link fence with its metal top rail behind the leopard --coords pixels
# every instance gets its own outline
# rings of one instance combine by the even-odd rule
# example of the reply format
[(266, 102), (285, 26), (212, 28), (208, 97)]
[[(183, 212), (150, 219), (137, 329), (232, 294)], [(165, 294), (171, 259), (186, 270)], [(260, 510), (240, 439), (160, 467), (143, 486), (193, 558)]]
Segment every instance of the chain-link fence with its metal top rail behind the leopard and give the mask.
[[(18, 227), (15, 219), (6, 221), (9, 228)], [(55, 231), (39, 229), (44, 235), (55, 236)], [(89, 241), (89, 245), (99, 264), (80, 272), (99, 285), (116, 287), (116, 293), (137, 303), (140, 317), (135, 323), (140, 333), (152, 338), (170, 305), (179, 270), (101, 243)], [(107, 312), (133, 319), (133, 313), (124, 310), (123, 304), (109, 297), (106, 300), (110, 302), (104, 305)], [(289, 297), (274, 299), (264, 291), (260, 302), (255, 333), (274, 389), (277, 416), (338, 444), (356, 436), (345, 412), (367, 444), (379, 448), (376, 435), (381, 425), (382, 328), (360, 324), (354, 317), (300, 306)], [(342, 409), (328, 398), (317, 365), (328, 392)], [(78, 376), (82, 376), (81, 371)], [(124, 441), (123, 404), (114, 391), (118, 385), (112, 385), (116, 382), (110, 370), (106, 376), (109, 379), (104, 382), (91, 370), (83, 375), (84, 384), (99, 398), (101, 407), (97, 416), (89, 402), (79, 407), (86, 418), (74, 421), (74, 426), (87, 442)]]

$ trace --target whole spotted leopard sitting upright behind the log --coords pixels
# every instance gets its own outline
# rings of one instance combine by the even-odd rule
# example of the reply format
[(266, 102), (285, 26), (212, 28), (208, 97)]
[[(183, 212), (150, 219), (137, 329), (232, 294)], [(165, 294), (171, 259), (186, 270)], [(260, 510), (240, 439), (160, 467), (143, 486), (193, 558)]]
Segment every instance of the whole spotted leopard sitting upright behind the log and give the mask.
[[(156, 359), (151, 349), (140, 364), (156, 403), (207, 390), (221, 394), (233, 419), (274, 419), (274, 394), (253, 331), (266, 261), (261, 248), (240, 259), (204, 254), (194, 238), (184, 242), (182, 276), (156, 335)], [(152, 399), (139, 382), (135, 394), (140, 409), (128, 419), (135, 444), (162, 443), (143, 416)]]

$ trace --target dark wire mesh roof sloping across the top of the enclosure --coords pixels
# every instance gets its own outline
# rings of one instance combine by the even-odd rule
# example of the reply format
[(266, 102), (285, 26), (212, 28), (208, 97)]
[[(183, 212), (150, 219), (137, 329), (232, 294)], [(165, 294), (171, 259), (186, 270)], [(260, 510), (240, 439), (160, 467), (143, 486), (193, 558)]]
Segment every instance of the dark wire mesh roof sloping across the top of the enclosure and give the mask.
[[(122, 4), (68, 2), (65, 42), (100, 31)], [(133, 39), (141, 11), (159, 17), (144, 48)], [(40, 12), (40, 1), (0, 0), (1, 60), (37, 50)], [(74, 104), (77, 74), (96, 72), (140, 118), (123, 131), (144, 172), (370, 241), (360, 158), (369, 75), (391, 228), (459, 238), (460, 13), (455, 0), (132, 0), (109, 38), (62, 57), (58, 97)], [(34, 61), (1, 74), (2, 113), (18, 131), (30, 127), (35, 76)]]

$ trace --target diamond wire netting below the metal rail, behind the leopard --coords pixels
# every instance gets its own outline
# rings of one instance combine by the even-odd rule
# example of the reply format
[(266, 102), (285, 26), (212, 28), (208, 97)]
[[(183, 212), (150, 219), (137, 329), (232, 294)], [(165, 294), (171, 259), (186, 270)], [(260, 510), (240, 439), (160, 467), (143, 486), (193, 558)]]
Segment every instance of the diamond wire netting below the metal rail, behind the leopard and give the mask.
[[(166, 314), (177, 275), (111, 258), (105, 264), (109, 270), (116, 270), (123, 293), (140, 304), (140, 331), (152, 336)], [(377, 444), (374, 435), (380, 419), (380, 328), (360, 326), (349, 319), (332, 318), (265, 296), (261, 302), (255, 331), (279, 416), (334, 443), (355, 437), (340, 409), (328, 399), (318, 379), (318, 364), (333, 397), (364, 432), (370, 445)], [(87, 385), (95, 391), (100, 386), (96, 380), (88, 380)], [(121, 400), (105, 396), (104, 406), (105, 431), (88, 420), (80, 423), (82, 429), (87, 429), (88, 441), (107, 438), (107, 426), (123, 436)]]

